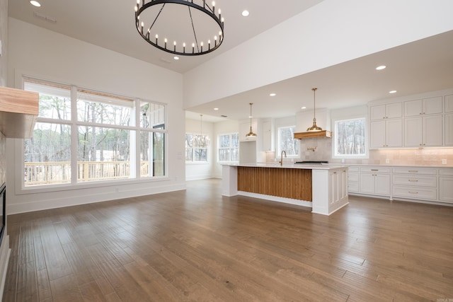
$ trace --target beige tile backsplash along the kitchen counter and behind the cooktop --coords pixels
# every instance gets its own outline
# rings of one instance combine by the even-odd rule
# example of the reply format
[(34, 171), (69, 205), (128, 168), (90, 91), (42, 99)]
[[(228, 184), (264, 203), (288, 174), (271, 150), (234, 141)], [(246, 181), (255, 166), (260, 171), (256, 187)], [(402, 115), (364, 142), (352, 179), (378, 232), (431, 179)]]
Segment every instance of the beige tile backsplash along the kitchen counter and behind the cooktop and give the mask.
[[(329, 138), (302, 139), (300, 141), (300, 160), (341, 163), (340, 159), (332, 158), (332, 144), (333, 141)], [(308, 150), (314, 147), (316, 147), (315, 151)], [(447, 160), (447, 164), (443, 164), (442, 160)], [(453, 166), (453, 148), (371, 150), (369, 151), (369, 158), (345, 159), (345, 163)]]

